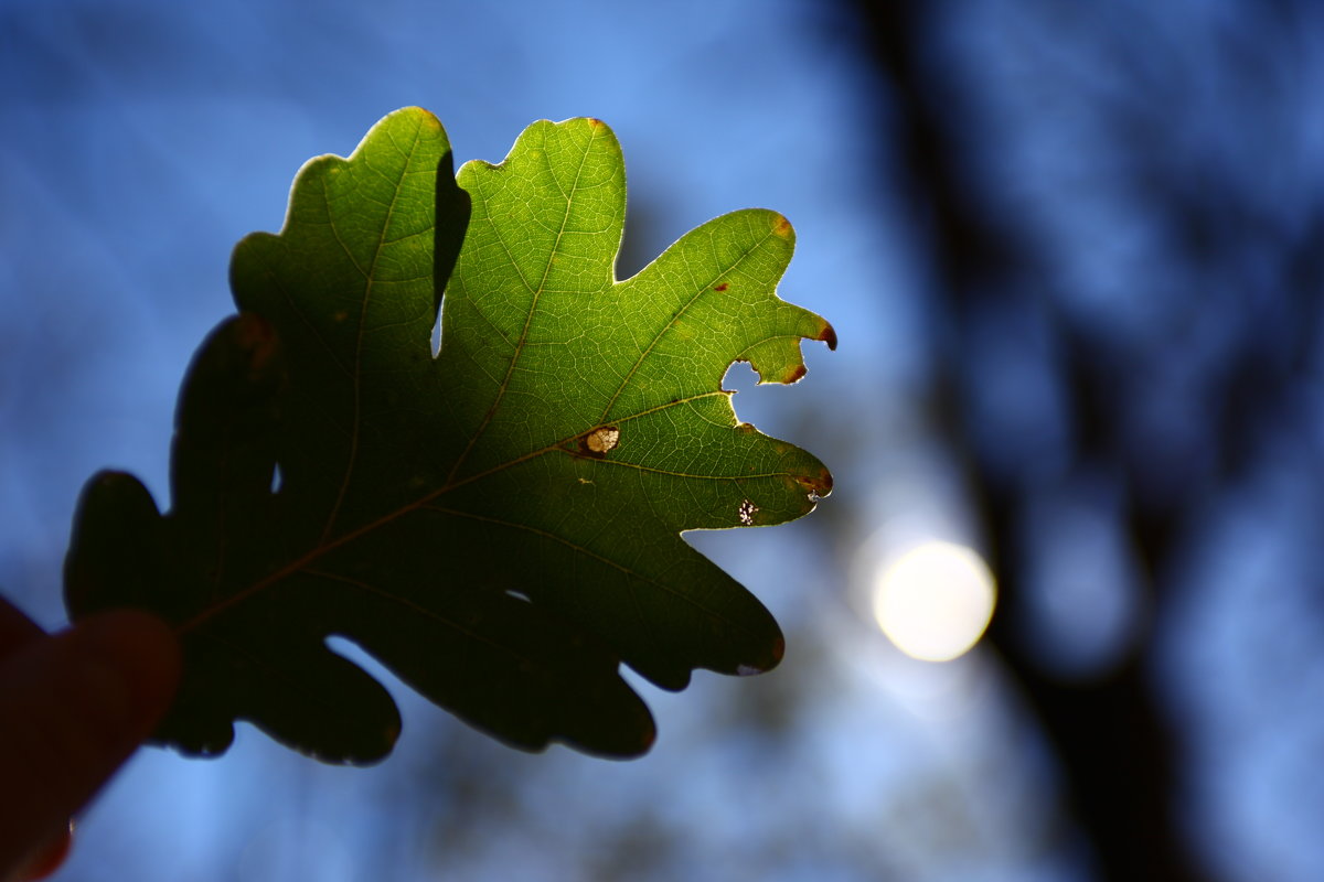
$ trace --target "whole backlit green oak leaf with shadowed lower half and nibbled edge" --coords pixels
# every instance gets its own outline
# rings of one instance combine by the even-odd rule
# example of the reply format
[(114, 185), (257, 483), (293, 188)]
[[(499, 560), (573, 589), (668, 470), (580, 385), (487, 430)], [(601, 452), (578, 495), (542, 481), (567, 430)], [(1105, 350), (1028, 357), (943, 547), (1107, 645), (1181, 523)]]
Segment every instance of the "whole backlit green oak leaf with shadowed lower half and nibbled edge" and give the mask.
[(828, 493), (822, 463), (737, 423), (722, 378), (793, 382), (801, 340), (833, 331), (775, 294), (781, 216), (716, 218), (617, 282), (624, 213), (592, 119), (535, 123), (457, 185), (441, 126), (406, 108), (299, 172), (184, 381), (173, 508), (103, 472), (75, 520), (70, 614), (146, 607), (183, 639), (156, 741), (216, 754), (246, 719), (380, 759), (399, 711), (330, 636), (510, 744), (614, 756), (654, 737), (621, 661), (667, 689), (777, 664), (772, 616), (681, 532)]

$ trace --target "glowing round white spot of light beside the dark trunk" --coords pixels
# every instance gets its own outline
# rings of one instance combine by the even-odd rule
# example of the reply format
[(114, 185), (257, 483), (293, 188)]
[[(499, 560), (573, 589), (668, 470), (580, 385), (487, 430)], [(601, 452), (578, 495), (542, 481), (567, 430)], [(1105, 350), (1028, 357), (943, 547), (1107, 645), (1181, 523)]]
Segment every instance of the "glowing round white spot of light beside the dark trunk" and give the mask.
[(951, 542), (925, 542), (886, 563), (874, 583), (874, 618), (906, 655), (949, 661), (973, 647), (993, 618), (996, 590), (984, 559)]

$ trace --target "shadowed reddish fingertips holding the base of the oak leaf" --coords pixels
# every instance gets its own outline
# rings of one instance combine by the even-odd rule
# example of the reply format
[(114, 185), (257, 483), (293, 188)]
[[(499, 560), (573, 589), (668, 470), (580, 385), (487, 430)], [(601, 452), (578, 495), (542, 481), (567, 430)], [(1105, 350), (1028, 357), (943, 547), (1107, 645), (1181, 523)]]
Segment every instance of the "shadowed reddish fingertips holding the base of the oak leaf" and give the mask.
[(0, 879), (41, 878), (52, 853), (58, 866), (73, 813), (151, 733), (179, 670), (173, 633), (144, 612), (46, 635), (0, 598)]

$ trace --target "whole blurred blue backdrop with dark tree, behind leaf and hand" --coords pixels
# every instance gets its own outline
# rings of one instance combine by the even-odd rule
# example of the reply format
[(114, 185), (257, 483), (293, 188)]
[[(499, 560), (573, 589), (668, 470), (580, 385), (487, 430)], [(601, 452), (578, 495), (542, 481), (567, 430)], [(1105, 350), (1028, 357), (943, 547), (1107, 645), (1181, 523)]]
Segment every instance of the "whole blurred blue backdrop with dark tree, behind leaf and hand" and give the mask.
[[(4, 0), (0, 590), (46, 627), (82, 481), (166, 500), (233, 243), (396, 107), (459, 160), (605, 119), (622, 276), (773, 208), (782, 296), (841, 339), (796, 389), (728, 376), (838, 489), (690, 536), (781, 620), (780, 669), (641, 685), (634, 763), (401, 688), (369, 771), (250, 729), (147, 750), (61, 878), (1324, 877), (1321, 94), (1309, 0)], [(953, 547), (977, 566), (899, 563)]]

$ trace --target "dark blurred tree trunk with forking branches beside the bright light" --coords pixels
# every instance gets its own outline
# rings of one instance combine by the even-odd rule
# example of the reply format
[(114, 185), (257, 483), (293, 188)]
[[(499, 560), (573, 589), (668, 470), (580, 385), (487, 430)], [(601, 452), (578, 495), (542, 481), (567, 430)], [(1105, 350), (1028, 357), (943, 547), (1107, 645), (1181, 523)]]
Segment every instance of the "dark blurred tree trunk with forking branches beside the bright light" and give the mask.
[[(894, 180), (908, 186), (907, 208), (927, 226), (935, 288), (944, 301), (948, 350), (933, 389), (935, 421), (964, 461), (990, 567), (998, 582), (1001, 608), (990, 639), (1023, 689), (1055, 750), (1067, 787), (1067, 803), (1090, 840), (1092, 857), (1107, 879), (1202, 879), (1176, 822), (1177, 776), (1169, 723), (1160, 713), (1147, 676), (1144, 635), (1117, 665), (1096, 678), (1068, 681), (1043, 670), (1017, 629), (1016, 610), (1023, 588), (1016, 524), (1027, 488), (994, 463), (985, 461), (973, 439), (967, 387), (973, 372), (955, 369), (961, 340), (977, 321), (1002, 304), (998, 298), (1034, 290), (1035, 247), (1014, 220), (993, 222), (980, 204), (968, 151), (978, 148), (976, 132), (964, 128), (961, 100), (951, 82), (935, 77), (925, 54), (944, 5), (924, 0), (861, 4), (870, 24), (873, 57), (890, 107), (884, 138), (899, 168)], [(1014, 291), (1017, 294), (1005, 294)], [(1013, 305), (1013, 304), (1005, 304)], [(1139, 550), (1149, 603), (1161, 602), (1161, 573), (1178, 536), (1186, 501), (1147, 492), (1128, 473), (1119, 450), (1116, 393), (1107, 358), (1096, 358), (1090, 340), (1054, 315), (1045, 298), (1035, 308), (1049, 315), (1061, 340), (1062, 369), (1071, 398), (1078, 446), (1066, 469), (1108, 467), (1125, 483), (1131, 538)], [(973, 382), (977, 382), (974, 380)]]

